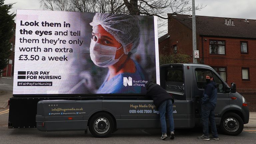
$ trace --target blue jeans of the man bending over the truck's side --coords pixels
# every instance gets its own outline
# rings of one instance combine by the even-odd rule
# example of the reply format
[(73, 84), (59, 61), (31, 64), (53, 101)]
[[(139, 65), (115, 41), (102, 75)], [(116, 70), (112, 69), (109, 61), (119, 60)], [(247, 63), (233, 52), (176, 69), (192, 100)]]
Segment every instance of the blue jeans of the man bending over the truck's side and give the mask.
[(167, 133), (166, 130), (166, 120), (165, 120), (165, 112), (168, 115), (170, 132), (174, 132), (174, 121), (173, 121), (173, 110), (172, 110), (172, 100), (168, 99), (163, 101), (158, 107), (159, 115), (160, 115), (160, 123), (162, 128), (162, 134)]

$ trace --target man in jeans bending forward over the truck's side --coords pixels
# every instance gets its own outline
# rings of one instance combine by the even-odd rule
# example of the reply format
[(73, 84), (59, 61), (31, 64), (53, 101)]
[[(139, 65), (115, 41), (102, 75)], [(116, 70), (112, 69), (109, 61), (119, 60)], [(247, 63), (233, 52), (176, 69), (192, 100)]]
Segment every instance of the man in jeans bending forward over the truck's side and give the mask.
[(146, 89), (146, 95), (152, 97), (155, 106), (157, 106), (159, 110), (160, 123), (162, 128), (161, 140), (167, 138), (165, 113), (167, 113), (169, 119), (171, 139), (174, 139), (174, 121), (172, 115), (172, 104), (174, 103), (173, 97), (167, 93), (160, 85), (153, 82), (148, 82), (146, 84)]

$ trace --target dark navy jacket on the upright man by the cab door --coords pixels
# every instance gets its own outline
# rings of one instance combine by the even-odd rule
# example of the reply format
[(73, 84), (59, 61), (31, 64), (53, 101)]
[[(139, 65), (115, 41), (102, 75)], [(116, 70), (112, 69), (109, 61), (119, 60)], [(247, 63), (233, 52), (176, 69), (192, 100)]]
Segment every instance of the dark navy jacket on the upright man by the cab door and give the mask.
[(203, 92), (202, 104), (210, 103), (216, 106), (217, 102), (217, 84), (214, 81), (209, 82)]

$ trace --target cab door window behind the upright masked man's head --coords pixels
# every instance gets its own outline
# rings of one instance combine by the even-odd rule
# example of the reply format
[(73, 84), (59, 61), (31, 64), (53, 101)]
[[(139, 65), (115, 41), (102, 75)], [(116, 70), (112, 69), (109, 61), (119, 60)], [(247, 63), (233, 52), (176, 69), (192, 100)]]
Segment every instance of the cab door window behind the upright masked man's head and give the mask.
[(211, 70), (208, 69), (196, 69), (196, 83), (197, 83), (197, 88), (199, 89), (204, 89), (206, 85), (205, 77), (207, 74), (213, 74), (213, 79), (214, 82), (218, 85), (217, 87), (217, 92), (218, 93), (224, 93), (224, 87), (226, 86), (223, 81)]

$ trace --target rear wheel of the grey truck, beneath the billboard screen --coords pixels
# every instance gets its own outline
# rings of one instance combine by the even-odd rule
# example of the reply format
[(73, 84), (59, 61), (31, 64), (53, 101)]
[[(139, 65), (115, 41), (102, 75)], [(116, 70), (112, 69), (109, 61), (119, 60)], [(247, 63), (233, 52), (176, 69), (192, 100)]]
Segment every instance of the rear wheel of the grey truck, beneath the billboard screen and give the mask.
[(89, 130), (94, 137), (108, 137), (113, 128), (114, 120), (105, 112), (93, 115), (89, 121)]

